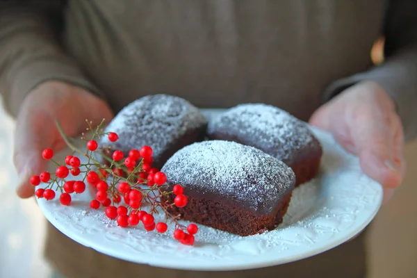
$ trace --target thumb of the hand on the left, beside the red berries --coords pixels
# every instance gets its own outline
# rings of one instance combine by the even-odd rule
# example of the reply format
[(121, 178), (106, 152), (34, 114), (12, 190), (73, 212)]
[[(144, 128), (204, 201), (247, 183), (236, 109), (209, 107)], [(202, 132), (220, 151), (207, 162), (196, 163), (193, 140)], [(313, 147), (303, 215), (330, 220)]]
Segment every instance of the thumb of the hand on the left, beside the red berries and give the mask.
[(45, 170), (47, 162), (42, 158), (42, 150), (51, 147), (54, 140), (53, 132), (49, 128), (49, 117), (31, 112), (35, 111), (24, 111), (17, 118), (13, 151), (13, 160), (19, 175), (16, 192), (22, 198), (33, 196), (35, 190), (29, 180)]

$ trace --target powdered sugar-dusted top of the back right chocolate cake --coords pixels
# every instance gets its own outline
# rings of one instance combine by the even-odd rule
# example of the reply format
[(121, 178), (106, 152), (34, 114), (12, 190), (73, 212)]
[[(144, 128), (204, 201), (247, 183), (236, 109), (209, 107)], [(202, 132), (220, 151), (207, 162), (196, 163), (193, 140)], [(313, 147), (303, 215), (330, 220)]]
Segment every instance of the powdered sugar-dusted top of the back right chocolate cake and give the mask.
[[(208, 123), (208, 136), (227, 136), (287, 162), (312, 142), (307, 125), (293, 115), (266, 104), (240, 104)], [(218, 137), (219, 136), (219, 137)], [(227, 139), (229, 140), (229, 139)]]

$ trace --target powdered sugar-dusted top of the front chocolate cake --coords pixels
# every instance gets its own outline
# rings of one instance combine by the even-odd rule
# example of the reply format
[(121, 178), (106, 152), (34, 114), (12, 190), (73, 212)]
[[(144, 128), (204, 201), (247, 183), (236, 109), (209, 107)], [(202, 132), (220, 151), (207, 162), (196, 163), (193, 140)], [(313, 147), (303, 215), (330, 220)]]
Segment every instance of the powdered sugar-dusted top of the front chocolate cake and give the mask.
[(290, 167), (259, 149), (211, 140), (180, 149), (163, 166), (168, 182), (198, 195), (231, 199), (259, 213), (272, 213), (294, 187)]

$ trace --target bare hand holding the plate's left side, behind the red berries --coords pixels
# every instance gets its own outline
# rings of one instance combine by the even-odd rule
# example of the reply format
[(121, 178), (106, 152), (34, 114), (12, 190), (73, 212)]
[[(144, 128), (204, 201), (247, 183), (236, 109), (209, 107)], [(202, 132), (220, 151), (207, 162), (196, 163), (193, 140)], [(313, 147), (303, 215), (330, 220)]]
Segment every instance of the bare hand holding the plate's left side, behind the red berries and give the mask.
[(65, 147), (55, 120), (68, 136), (76, 136), (85, 131), (85, 119), (98, 124), (104, 118), (111, 120), (113, 114), (103, 100), (67, 83), (46, 82), (29, 92), (16, 123), (13, 159), (19, 174), (17, 195), (33, 196), (35, 190), (29, 179), (46, 169), (43, 149), (58, 152)]

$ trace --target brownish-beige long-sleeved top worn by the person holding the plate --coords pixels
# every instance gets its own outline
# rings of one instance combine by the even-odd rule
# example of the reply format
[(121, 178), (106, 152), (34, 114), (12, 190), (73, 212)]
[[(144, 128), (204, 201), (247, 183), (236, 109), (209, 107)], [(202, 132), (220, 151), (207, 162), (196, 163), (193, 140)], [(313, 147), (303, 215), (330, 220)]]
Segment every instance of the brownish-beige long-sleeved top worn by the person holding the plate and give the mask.
[[(382, 35), (386, 62), (373, 67), (370, 49)], [(140, 96), (165, 92), (202, 107), (273, 104), (302, 120), (344, 88), (373, 80), (393, 97), (412, 138), (417, 1), (0, 0), (0, 92), (8, 111), (16, 115), (26, 94), (51, 79), (90, 90), (115, 112)], [(71, 265), (68, 257), (59, 263), (63, 248), (87, 263), (78, 274), (63, 270), (69, 276), (93, 277), (87, 273), (99, 273), (94, 261), (120, 265), (64, 242), (49, 240), (56, 265)], [(363, 261), (363, 245), (357, 246), (354, 258)], [(335, 263), (347, 252), (338, 254), (330, 256), (338, 265), (334, 277), (363, 274), (361, 267)], [(329, 277), (329, 265), (313, 264), (317, 275)]]

